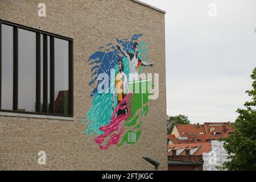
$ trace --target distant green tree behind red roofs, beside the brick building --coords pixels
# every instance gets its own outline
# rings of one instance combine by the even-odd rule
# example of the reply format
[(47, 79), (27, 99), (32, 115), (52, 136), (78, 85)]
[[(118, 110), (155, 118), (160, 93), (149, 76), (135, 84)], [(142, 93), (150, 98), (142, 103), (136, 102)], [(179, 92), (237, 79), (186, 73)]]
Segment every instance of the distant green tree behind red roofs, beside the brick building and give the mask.
[(185, 115), (168, 116), (167, 115), (167, 134), (172, 133), (175, 125), (189, 125), (190, 121)]

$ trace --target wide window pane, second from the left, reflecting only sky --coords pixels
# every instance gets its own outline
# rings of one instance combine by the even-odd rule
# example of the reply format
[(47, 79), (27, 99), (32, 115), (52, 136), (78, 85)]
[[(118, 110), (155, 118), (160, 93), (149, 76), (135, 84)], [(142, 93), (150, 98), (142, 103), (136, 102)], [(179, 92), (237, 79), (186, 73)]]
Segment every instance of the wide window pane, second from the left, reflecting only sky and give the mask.
[(18, 110), (35, 111), (36, 34), (18, 30)]

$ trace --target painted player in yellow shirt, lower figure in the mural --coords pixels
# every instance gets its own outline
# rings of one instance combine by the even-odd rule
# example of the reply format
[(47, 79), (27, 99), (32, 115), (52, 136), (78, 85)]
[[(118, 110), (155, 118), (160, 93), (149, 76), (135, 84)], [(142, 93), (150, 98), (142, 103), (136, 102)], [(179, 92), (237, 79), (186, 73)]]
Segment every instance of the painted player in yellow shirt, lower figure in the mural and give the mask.
[[(114, 110), (115, 94), (117, 93), (117, 104), (119, 104), (128, 93), (128, 81), (127, 76), (123, 72), (123, 61), (118, 60), (118, 73), (115, 75), (115, 89), (112, 100), (112, 110)], [(119, 109), (117, 115), (127, 114), (127, 109)]]

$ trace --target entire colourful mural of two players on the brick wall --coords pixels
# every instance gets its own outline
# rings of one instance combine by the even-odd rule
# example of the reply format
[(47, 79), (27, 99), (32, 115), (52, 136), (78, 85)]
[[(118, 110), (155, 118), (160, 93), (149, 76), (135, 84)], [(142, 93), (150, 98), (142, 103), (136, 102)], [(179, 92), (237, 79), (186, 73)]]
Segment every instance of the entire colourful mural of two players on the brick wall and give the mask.
[(139, 79), (145, 67), (154, 66), (142, 34), (115, 41), (98, 48), (88, 60), (93, 102), (82, 125), (84, 135), (93, 136), (102, 150), (137, 143), (152, 93), (152, 77)]

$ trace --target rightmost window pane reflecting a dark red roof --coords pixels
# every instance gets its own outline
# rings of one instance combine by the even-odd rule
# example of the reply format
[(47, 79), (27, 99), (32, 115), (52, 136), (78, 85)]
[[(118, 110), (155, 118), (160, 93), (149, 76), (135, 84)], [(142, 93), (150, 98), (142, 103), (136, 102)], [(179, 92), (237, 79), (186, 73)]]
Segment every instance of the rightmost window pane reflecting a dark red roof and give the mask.
[(68, 41), (55, 38), (55, 114), (69, 114)]

